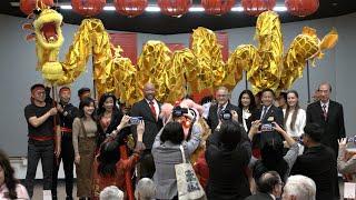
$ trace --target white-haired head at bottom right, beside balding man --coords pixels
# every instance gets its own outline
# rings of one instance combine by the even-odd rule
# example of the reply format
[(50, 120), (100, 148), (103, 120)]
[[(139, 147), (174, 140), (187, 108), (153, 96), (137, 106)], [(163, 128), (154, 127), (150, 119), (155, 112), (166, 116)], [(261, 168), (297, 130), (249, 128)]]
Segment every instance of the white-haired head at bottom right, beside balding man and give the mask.
[(305, 176), (290, 176), (284, 188), (287, 196), (295, 196), (297, 200), (315, 200), (315, 182)]

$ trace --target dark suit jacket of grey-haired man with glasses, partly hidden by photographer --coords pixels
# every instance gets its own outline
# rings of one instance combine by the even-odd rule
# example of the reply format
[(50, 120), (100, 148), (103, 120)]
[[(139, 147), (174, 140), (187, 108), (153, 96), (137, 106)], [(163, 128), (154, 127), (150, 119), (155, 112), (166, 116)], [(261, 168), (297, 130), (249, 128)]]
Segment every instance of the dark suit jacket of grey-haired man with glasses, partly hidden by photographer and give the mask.
[[(243, 122), (243, 110), (240, 108), (228, 102), (225, 110), (235, 110), (238, 114), (238, 121), (240, 123)], [(214, 131), (216, 127), (219, 124), (218, 104), (211, 104), (211, 107), (209, 108), (207, 123), (210, 127), (211, 131)]]

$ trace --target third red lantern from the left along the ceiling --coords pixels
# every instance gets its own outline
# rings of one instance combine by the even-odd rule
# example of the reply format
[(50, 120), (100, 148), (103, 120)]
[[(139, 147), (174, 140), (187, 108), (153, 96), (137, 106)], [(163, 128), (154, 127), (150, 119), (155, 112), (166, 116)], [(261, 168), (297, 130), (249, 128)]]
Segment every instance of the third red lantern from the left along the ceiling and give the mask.
[(144, 13), (147, 4), (147, 0), (113, 0), (116, 11), (128, 17)]

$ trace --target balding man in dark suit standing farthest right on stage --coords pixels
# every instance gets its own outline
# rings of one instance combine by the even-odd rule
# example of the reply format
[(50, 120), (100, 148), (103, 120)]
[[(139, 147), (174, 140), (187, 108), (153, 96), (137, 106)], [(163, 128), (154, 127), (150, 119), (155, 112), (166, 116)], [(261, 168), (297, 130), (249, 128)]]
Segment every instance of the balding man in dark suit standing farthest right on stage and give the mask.
[(345, 138), (343, 106), (329, 99), (332, 87), (329, 83), (319, 84), (319, 101), (313, 102), (307, 108), (307, 123), (319, 123), (324, 133), (322, 143), (330, 147), (338, 154), (338, 142)]

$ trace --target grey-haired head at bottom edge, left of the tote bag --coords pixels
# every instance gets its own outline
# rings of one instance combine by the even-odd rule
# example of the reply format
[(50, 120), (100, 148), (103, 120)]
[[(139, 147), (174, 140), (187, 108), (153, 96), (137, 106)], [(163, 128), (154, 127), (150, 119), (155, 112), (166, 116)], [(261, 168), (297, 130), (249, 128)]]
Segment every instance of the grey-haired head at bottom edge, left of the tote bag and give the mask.
[(138, 181), (135, 190), (135, 199), (150, 200), (156, 196), (156, 184), (149, 178), (142, 178)]

